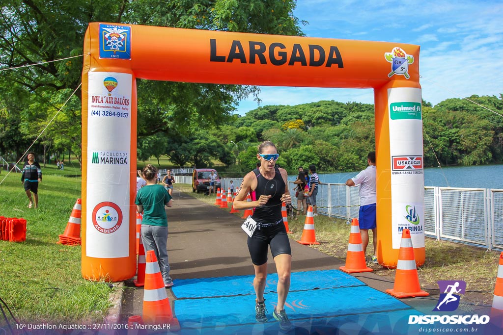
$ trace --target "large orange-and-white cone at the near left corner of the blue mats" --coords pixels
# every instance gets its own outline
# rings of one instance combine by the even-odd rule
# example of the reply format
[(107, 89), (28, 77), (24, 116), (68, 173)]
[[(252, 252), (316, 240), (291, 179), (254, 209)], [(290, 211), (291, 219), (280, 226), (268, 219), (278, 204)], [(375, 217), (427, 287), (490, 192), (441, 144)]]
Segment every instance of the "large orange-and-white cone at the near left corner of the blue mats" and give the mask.
[(167, 298), (159, 263), (153, 250), (147, 251), (145, 287), (143, 288), (143, 320), (146, 324), (170, 324), (170, 331), (180, 330), (178, 319), (173, 317)]

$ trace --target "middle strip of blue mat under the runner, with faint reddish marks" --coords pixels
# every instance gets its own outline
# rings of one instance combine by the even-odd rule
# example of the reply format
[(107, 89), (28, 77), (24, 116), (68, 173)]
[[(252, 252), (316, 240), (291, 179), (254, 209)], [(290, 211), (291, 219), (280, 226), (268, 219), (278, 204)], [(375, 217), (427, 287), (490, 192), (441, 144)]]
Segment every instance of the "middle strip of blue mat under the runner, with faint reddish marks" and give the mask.
[[(276, 293), (265, 295), (269, 322)], [(182, 299), (174, 303), (182, 329), (256, 323), (255, 296)], [(296, 291), (288, 294), (285, 309), (290, 320), (330, 318), (346, 314), (410, 309), (394, 297), (368, 286)]]

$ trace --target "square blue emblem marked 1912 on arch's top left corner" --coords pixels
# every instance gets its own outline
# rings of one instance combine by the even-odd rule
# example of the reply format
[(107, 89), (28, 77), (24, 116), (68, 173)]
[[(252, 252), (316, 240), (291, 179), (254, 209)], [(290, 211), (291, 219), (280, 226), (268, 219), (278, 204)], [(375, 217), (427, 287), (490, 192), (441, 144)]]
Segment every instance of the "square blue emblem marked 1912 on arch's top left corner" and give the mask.
[(100, 58), (131, 59), (131, 27), (100, 25)]

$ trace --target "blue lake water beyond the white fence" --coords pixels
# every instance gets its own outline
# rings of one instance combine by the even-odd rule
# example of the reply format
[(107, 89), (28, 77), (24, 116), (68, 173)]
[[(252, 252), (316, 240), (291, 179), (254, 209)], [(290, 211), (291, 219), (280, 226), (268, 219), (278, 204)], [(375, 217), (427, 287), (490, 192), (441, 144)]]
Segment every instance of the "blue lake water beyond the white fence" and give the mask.
[[(323, 183), (344, 184), (358, 172), (318, 173)], [(290, 176), (288, 179), (295, 179)], [(425, 169), (425, 186), (503, 189), (503, 164)]]

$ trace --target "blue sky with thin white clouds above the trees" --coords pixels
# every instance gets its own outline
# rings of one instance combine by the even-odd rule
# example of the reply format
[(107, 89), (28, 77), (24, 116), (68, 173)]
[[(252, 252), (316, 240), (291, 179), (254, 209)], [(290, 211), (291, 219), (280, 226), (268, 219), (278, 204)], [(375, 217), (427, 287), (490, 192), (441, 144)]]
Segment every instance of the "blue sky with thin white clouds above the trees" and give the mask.
[[(503, 93), (503, 2), (466, 0), (298, 0), (308, 37), (421, 46), (423, 98), (437, 104), (472, 94)], [(319, 100), (374, 103), (373, 89), (261, 86), (261, 106)], [(239, 103), (244, 115), (253, 98)]]

